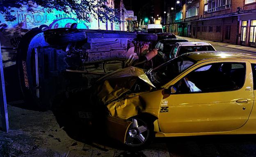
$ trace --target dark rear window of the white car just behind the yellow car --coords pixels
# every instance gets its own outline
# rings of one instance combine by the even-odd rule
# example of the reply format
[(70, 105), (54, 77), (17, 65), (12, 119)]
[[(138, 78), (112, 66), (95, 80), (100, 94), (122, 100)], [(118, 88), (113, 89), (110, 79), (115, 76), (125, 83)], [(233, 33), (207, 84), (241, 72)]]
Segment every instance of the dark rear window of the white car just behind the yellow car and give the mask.
[(197, 52), (197, 51), (215, 51), (213, 46), (181, 46), (178, 52), (178, 55), (183, 55), (188, 52)]

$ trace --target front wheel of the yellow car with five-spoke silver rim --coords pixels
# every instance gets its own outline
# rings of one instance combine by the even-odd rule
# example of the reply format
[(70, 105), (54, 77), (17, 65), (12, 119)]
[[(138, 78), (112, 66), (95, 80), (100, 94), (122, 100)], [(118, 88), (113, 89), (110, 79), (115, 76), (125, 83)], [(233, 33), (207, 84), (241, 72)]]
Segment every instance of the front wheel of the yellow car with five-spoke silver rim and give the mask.
[(140, 149), (149, 144), (155, 137), (153, 123), (139, 117), (130, 118), (132, 121), (126, 132), (125, 144), (131, 149)]

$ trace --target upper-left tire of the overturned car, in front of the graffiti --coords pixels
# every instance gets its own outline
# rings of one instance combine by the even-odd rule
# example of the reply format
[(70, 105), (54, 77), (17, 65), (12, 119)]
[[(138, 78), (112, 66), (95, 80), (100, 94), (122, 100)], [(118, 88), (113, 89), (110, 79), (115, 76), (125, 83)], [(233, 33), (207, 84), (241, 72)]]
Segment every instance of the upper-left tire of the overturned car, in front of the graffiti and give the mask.
[(46, 42), (51, 45), (74, 43), (87, 39), (86, 32), (70, 28), (47, 30), (44, 34)]

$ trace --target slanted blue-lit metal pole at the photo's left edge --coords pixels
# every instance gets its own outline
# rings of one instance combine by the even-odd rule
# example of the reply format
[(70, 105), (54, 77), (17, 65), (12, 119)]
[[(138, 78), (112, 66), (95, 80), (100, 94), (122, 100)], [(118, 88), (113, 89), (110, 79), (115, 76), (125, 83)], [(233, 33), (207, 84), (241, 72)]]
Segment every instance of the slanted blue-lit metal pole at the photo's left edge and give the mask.
[(8, 121), (7, 103), (6, 103), (6, 96), (5, 96), (5, 78), (4, 78), (4, 69), (2, 64), (1, 41), (0, 41), (0, 124), (2, 124), (2, 129), (5, 132), (9, 132), (9, 121)]

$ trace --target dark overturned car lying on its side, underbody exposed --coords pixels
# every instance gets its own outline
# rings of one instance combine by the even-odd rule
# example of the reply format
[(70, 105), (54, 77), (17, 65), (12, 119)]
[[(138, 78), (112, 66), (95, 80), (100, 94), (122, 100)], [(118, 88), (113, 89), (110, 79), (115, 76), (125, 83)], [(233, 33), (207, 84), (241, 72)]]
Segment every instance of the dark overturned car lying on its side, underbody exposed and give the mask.
[(70, 28), (34, 28), (18, 47), (23, 96), (30, 104), (50, 108), (56, 95), (87, 89), (111, 71), (131, 65), (151, 68), (157, 50), (149, 50), (156, 40), (155, 34), (78, 30), (75, 23)]

